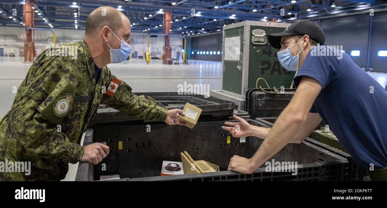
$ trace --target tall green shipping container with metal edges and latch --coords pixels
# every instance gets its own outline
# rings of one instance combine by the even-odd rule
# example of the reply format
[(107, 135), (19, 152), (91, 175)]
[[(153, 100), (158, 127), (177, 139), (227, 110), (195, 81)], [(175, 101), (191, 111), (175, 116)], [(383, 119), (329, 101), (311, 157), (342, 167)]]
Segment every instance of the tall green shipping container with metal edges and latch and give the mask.
[[(223, 27), (223, 73), (221, 92), (245, 99), (258, 78), (270, 88), (290, 88), (295, 72), (283, 68), (268, 34), (283, 32), (288, 23), (243, 21)], [(267, 88), (263, 79), (258, 87)]]

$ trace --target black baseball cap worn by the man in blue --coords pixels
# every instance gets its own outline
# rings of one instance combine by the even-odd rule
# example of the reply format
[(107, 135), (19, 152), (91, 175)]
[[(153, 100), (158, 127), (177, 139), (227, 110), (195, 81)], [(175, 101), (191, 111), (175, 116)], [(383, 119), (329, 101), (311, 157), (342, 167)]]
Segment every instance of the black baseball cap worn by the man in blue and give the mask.
[(267, 35), (269, 43), (273, 48), (281, 48), (281, 38), (282, 36), (291, 36), (291, 35), (308, 35), (310, 39), (320, 43), (320, 45), (325, 44), (325, 34), (321, 27), (316, 23), (310, 20), (301, 20), (295, 23), (292, 23), (281, 33), (274, 33)]

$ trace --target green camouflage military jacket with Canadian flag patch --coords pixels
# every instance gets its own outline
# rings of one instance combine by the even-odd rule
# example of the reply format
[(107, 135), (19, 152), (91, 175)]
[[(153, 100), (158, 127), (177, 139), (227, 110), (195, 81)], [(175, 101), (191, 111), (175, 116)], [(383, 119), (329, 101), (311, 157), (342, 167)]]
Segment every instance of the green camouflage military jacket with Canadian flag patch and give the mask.
[(46, 49), (36, 58), (0, 121), (0, 162), (31, 162), (31, 174), (0, 172), (0, 181), (63, 179), (68, 163), (82, 159), (80, 140), (99, 104), (141, 119), (165, 120), (166, 108), (133, 94), (108, 67), (97, 81), (95, 76), (84, 41)]

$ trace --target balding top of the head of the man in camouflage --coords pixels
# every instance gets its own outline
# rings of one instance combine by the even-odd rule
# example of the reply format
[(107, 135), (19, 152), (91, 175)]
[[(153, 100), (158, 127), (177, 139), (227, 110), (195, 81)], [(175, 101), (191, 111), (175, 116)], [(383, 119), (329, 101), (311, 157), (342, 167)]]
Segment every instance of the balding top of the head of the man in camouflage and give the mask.
[(92, 11), (86, 19), (85, 35), (92, 35), (100, 31), (104, 26), (112, 31), (118, 31), (129, 19), (113, 7), (98, 7)]

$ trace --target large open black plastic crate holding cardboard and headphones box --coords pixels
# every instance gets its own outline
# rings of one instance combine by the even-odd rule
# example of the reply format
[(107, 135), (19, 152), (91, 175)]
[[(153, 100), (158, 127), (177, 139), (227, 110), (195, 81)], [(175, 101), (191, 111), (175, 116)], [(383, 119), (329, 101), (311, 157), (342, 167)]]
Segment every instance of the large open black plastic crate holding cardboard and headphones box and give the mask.
[[(267, 126), (259, 121), (247, 120), (256, 126)], [(99, 124), (88, 130), (84, 145), (106, 142), (110, 154), (98, 165), (81, 162), (77, 181), (98, 180), (100, 175), (120, 174), (119, 181), (342, 181), (344, 157), (317, 147), (312, 143), (288, 144), (269, 161), (298, 162), (298, 174), (266, 172), (262, 165), (253, 174), (227, 171), (233, 155), (252, 157), (263, 139), (249, 136), (245, 141), (233, 138), (221, 129), (224, 121), (198, 122), (193, 129), (168, 124)], [(230, 136), (230, 143), (227, 137)], [(118, 142), (123, 142), (118, 149)], [(181, 161), (180, 152), (187, 151), (192, 158), (219, 165), (220, 172), (159, 176), (163, 160)], [(106, 170), (101, 170), (106, 164)], [(91, 168), (92, 166), (92, 168)]]

